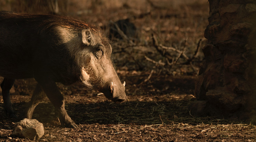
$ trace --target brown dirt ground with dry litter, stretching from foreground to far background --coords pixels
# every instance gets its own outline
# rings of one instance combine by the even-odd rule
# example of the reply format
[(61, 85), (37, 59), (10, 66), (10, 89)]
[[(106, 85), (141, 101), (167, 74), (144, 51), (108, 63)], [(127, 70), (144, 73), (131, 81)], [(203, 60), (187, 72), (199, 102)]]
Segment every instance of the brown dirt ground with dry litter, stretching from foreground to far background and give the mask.
[[(17, 7), (4, 2), (0, 1), (0, 10)], [(85, 90), (79, 83), (70, 86), (57, 83), (66, 99), (67, 113), (78, 128), (60, 127), (53, 105), (46, 99), (33, 114), (33, 119), (42, 122), (45, 128), (38, 141), (256, 141), (256, 126), (248, 121), (190, 114), (190, 104), (196, 100), (194, 83), (204, 59), (201, 50), (198, 55), (195, 53), (207, 42), (204, 38), (209, 13), (207, 1), (102, 0), (96, 6), (90, 0), (72, 2), (64, 15), (98, 25), (107, 34), (110, 21), (129, 19), (136, 26), (136, 34), (128, 40), (114, 38), (111, 43), (113, 62), (121, 82), (126, 81), (128, 100), (115, 104), (95, 90)], [(166, 48), (161, 50), (163, 53), (157, 47), (175, 50)], [(35, 85), (34, 79), (15, 81), (11, 101), (18, 116)], [(22, 118), (9, 118), (5, 114), (2, 96), (0, 114), (1, 142), (30, 141), (11, 135), (14, 123)]]

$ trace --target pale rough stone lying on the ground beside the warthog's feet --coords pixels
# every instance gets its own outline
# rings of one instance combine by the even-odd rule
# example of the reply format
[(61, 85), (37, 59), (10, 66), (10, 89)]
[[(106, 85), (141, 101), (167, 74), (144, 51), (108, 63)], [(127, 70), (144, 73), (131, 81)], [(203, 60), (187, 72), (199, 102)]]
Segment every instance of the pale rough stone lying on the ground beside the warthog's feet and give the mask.
[(29, 140), (38, 140), (44, 135), (44, 126), (36, 119), (24, 118), (15, 123), (12, 135)]

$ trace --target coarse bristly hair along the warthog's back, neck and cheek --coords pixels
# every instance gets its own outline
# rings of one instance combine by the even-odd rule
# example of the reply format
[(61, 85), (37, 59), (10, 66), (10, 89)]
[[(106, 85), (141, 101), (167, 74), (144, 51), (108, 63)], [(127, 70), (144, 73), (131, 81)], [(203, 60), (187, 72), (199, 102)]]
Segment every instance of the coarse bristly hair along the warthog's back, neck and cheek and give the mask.
[[(82, 42), (82, 30), (88, 29), (95, 40), (101, 42), (106, 48), (109, 48), (106, 50), (111, 52), (111, 46), (108, 45), (109, 40), (99, 27), (64, 16), (19, 14), (6, 11), (0, 12), (0, 15), (2, 14), (4, 15), (2, 19), (5, 21), (15, 19), (17, 22), (31, 23), (33, 26), (31, 28), (38, 30), (38, 34), (50, 32), (58, 37), (54, 44), (64, 45), (64, 48), (67, 49), (76, 63), (72, 72), (80, 76), (81, 71), (85, 70), (90, 76), (89, 79), (82, 80), (82, 83), (88, 88), (96, 87), (104, 82), (97, 71), (97, 67), (94, 66), (95, 63), (93, 57), (90, 57), (89, 49)], [(96, 82), (97, 84), (95, 84)]]

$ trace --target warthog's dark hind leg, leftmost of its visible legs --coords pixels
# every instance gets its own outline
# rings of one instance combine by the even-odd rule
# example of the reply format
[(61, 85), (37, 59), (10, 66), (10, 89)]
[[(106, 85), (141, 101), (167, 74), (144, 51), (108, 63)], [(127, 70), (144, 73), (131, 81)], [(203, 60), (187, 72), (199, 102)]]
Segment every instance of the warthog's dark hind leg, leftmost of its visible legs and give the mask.
[(4, 108), (6, 110), (6, 113), (11, 118), (13, 118), (13, 117), (17, 118), (17, 116), (15, 115), (15, 113), (13, 111), (11, 99), (10, 99), (10, 89), (12, 88), (14, 81), (15, 81), (15, 79), (4, 78), (3, 82), (1, 83)]

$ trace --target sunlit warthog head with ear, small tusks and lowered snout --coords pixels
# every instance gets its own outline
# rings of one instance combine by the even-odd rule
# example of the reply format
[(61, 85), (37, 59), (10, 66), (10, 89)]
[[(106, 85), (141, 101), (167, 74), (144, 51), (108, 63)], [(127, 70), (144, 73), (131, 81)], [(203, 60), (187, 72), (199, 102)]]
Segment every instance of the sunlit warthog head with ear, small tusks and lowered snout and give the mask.
[(112, 47), (97, 31), (82, 30), (82, 50), (77, 62), (81, 69), (80, 80), (88, 88), (95, 88), (116, 103), (124, 102), (125, 82), (121, 83), (110, 59)]

